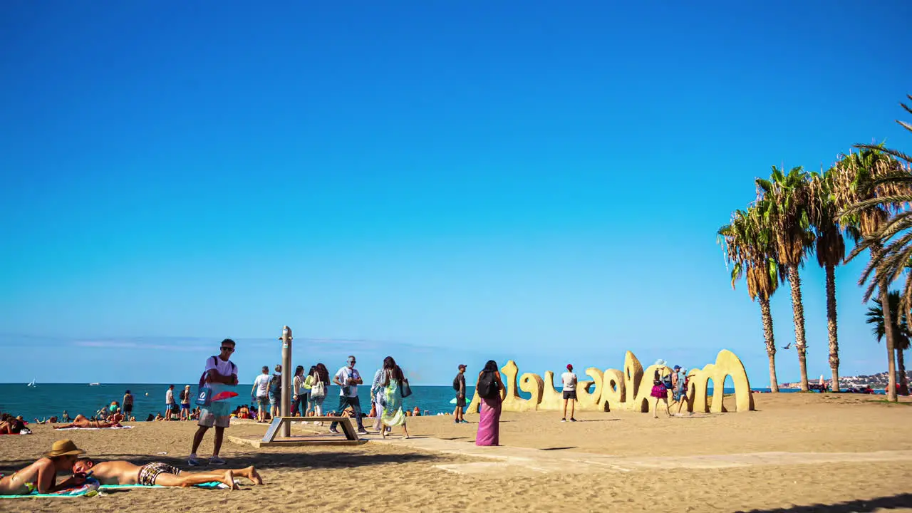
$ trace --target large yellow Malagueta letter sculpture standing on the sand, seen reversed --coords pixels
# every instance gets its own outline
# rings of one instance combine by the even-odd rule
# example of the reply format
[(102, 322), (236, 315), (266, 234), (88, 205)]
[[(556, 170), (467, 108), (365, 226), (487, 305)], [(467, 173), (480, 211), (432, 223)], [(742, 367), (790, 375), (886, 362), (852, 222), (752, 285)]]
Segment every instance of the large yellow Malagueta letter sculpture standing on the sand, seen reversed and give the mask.
[[(576, 385), (577, 409), (594, 412), (628, 410), (649, 412), (652, 403), (649, 392), (652, 390), (652, 376), (667, 376), (672, 370), (666, 365), (650, 365), (643, 370), (643, 365), (630, 351), (624, 358), (624, 370), (608, 369), (602, 371), (596, 367), (586, 369), (586, 376), (592, 381), (579, 382)], [(564, 403), (561, 393), (554, 389), (554, 372), (544, 372), (544, 380), (538, 374), (525, 372), (519, 375), (516, 362), (507, 361), (501, 368), (503, 384), (506, 390), (501, 391), (503, 411), (529, 412), (534, 410), (558, 411)], [(735, 411), (749, 412), (753, 407), (751, 382), (747, 379), (744, 364), (735, 353), (722, 350), (716, 356), (715, 363), (709, 363), (702, 369), (691, 369), (688, 372), (688, 411), (690, 412), (726, 412), (722, 404), (723, 386), (726, 377), (731, 377), (735, 389)], [(647, 378), (648, 377), (648, 378)], [(712, 401), (709, 400), (709, 383), (712, 380)], [(523, 399), (519, 391), (529, 393), (532, 397)], [(668, 392), (669, 398), (671, 391)], [(469, 412), (478, 412), (480, 398), (476, 392), (469, 403)]]

